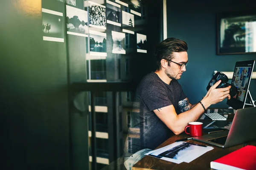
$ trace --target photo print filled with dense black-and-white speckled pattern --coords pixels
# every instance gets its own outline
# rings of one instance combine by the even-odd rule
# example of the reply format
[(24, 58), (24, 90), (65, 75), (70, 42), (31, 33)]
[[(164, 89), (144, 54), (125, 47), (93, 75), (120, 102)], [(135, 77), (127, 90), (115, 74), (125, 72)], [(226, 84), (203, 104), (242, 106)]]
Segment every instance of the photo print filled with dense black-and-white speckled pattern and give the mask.
[(89, 2), (89, 26), (101, 29), (106, 28), (106, 7), (92, 1)]

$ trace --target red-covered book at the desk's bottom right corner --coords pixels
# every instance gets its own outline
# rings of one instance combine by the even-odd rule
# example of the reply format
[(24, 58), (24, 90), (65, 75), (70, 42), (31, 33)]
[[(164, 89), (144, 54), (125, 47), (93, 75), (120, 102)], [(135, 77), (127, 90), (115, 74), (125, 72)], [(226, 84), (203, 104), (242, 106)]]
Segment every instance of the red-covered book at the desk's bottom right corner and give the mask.
[(210, 164), (215, 170), (256, 170), (256, 146), (247, 145)]

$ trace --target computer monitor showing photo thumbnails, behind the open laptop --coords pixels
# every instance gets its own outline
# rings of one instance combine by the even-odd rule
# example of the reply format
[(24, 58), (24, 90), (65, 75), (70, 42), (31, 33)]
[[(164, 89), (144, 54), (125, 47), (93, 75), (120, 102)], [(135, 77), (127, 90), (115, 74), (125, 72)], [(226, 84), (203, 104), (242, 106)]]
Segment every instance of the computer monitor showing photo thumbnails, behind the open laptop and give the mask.
[(236, 62), (231, 84), (236, 86), (237, 94), (227, 100), (227, 105), (233, 109), (245, 108), (254, 63), (255, 60)]

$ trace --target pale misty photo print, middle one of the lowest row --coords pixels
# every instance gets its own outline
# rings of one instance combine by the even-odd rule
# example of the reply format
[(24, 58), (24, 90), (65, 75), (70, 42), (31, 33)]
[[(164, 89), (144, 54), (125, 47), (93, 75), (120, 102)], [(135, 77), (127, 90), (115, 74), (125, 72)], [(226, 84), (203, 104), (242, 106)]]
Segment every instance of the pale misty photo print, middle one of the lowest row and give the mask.
[(112, 53), (125, 54), (125, 33), (112, 31)]

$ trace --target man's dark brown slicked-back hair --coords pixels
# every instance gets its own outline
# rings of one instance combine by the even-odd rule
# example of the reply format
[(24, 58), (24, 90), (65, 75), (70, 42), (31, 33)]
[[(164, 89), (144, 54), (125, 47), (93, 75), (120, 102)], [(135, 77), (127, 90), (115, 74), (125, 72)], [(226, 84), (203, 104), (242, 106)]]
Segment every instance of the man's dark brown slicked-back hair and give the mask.
[[(177, 38), (167, 38), (160, 42), (155, 51), (155, 57), (157, 59), (157, 70), (161, 68), (161, 59), (173, 59), (173, 52), (188, 51), (188, 46), (185, 41)], [(169, 65), (169, 62), (168, 62)]]

